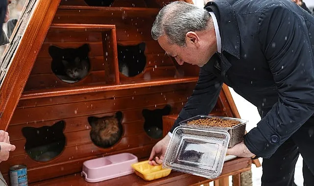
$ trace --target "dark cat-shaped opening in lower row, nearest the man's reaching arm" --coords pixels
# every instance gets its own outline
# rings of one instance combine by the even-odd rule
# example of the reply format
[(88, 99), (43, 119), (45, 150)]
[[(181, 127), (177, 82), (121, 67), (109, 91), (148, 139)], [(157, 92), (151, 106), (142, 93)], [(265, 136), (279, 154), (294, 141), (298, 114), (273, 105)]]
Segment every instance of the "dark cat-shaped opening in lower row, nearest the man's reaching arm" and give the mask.
[(163, 116), (170, 114), (171, 107), (166, 105), (163, 109), (144, 109), (142, 115), (145, 118), (144, 129), (148, 136), (153, 139), (163, 137)]

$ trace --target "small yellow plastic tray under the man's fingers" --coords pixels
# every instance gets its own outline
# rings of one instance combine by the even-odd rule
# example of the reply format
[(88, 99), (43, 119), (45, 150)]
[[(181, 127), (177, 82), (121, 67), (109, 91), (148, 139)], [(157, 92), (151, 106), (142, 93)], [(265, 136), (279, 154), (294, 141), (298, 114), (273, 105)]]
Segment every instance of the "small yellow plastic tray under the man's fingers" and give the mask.
[(148, 160), (144, 162), (132, 164), (132, 168), (136, 175), (146, 181), (156, 180), (166, 177), (170, 174), (171, 169), (163, 168), (162, 165), (152, 166), (148, 164)]

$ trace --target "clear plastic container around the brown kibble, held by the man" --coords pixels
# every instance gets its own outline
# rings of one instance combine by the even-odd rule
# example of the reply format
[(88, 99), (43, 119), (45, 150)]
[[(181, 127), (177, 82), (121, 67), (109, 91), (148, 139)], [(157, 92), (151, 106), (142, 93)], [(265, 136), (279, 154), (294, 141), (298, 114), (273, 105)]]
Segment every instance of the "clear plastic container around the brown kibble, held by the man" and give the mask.
[[(233, 127), (215, 127), (215, 126), (207, 126), (207, 125), (195, 125), (195, 124), (188, 124), (188, 122), (197, 120), (197, 119), (207, 119), (207, 118), (220, 118), (223, 120), (232, 120), (238, 121), (239, 124)], [(236, 144), (240, 143), (243, 140), (243, 136), (245, 134), (245, 126), (247, 120), (232, 118), (232, 117), (219, 117), (219, 116), (195, 116), (190, 119), (184, 120), (180, 122), (181, 126), (191, 127), (191, 128), (204, 128), (204, 129), (218, 129), (218, 130), (226, 130), (230, 134), (230, 140), (228, 144), (228, 148), (235, 146)]]

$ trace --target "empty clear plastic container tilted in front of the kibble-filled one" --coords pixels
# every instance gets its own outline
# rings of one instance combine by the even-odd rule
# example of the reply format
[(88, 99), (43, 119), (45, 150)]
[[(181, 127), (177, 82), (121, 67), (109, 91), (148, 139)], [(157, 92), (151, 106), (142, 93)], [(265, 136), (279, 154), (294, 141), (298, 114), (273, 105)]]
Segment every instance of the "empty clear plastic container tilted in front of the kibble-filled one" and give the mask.
[(179, 126), (173, 130), (163, 166), (215, 179), (221, 174), (229, 140), (224, 130)]

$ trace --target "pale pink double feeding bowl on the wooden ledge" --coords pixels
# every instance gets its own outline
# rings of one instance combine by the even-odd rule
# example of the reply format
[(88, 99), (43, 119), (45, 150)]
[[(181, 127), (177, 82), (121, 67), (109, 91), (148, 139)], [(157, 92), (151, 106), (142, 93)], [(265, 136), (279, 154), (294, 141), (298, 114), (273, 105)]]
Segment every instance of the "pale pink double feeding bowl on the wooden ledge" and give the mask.
[(101, 182), (133, 173), (131, 165), (138, 158), (131, 153), (106, 156), (83, 163), (82, 176), (87, 182)]

